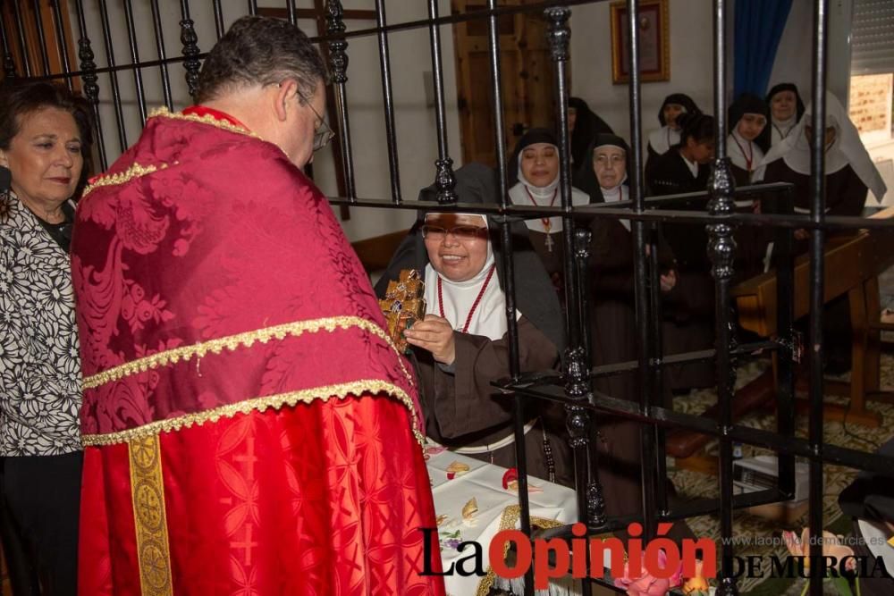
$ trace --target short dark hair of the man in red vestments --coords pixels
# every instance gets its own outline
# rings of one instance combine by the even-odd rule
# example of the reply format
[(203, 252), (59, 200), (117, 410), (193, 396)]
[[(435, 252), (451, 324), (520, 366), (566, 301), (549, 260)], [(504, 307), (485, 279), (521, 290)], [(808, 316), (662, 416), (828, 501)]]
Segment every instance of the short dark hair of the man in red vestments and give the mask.
[(198, 75), (199, 104), (243, 85), (298, 81), (310, 98), (326, 79), (320, 53), (304, 32), (282, 19), (245, 16), (234, 22), (211, 49)]

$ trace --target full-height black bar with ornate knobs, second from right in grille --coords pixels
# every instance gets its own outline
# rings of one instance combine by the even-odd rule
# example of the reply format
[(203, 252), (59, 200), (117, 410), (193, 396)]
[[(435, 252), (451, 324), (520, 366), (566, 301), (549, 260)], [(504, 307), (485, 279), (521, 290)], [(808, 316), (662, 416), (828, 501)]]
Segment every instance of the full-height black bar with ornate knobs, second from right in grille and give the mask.
[[(708, 189), (711, 200), (708, 212), (712, 215), (726, 215), (735, 211), (733, 199), (735, 182), (727, 156), (726, 139), (726, 23), (727, 3), (714, 0), (713, 41), (714, 41), (714, 161)], [(732, 333), (730, 329), (730, 281), (733, 273), (733, 257), (736, 254), (736, 240), (733, 228), (728, 222), (708, 225), (708, 256), (711, 259), (711, 274), (714, 278), (714, 337), (717, 348), (717, 403), (719, 406), (717, 424), (721, 428), (720, 461), (718, 462), (718, 483), (721, 497), (721, 573), (718, 576), (718, 594), (734, 596), (738, 594), (733, 565), (732, 538), (732, 441), (727, 431), (732, 426), (732, 399), (735, 393), (736, 370), (730, 357)]]

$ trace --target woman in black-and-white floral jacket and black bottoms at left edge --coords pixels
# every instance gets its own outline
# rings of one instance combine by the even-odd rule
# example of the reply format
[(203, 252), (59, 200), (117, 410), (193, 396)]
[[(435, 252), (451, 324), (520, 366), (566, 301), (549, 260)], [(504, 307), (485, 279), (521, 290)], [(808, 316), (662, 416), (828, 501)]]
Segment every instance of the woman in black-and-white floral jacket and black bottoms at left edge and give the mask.
[(68, 249), (89, 130), (89, 111), (67, 89), (0, 88), (0, 165), (12, 175), (0, 195), (4, 547), (54, 596), (77, 592), (80, 357)]

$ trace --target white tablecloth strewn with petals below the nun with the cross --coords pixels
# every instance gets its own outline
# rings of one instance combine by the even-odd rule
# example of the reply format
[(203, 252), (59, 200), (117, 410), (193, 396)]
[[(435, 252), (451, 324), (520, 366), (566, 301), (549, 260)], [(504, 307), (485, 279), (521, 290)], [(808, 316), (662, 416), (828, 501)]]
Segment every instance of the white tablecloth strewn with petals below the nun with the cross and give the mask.
[[(466, 464), (469, 471), (448, 480), (447, 467), (452, 462)], [(439, 452), (439, 449), (429, 449), (427, 463), (434, 494), (434, 511), (438, 516), (446, 516), (438, 526), (444, 570), (471, 554), (472, 551), (468, 548), (461, 552), (456, 550), (457, 544), (462, 541), (477, 541), (483, 551), (483, 567), (489, 572), (488, 550), (491, 539), (501, 529), (519, 527), (519, 495), (516, 491), (502, 488), (506, 468), (485, 464), (451, 451)], [(578, 506), (574, 491), (534, 476), (528, 477), (528, 484), (539, 489), (528, 492), (532, 518), (561, 524), (577, 521)], [(471, 519), (464, 519), (462, 508), (473, 497), (477, 502), (477, 513)], [(467, 563), (464, 567), (471, 566)], [(478, 575), (464, 577), (455, 573), (444, 577), (447, 593), (451, 596), (475, 596), (479, 584), (491, 580), (493, 574), (484, 579)]]

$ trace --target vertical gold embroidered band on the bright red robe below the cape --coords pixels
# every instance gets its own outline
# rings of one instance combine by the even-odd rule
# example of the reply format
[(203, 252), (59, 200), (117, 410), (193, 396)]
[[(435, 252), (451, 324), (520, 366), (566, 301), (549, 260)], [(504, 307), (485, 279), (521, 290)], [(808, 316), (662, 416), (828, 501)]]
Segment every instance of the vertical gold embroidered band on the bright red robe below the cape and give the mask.
[(162, 454), (157, 436), (130, 441), (131, 499), (136, 529), (140, 593), (172, 596), (171, 550), (164, 510)]

